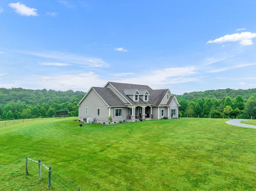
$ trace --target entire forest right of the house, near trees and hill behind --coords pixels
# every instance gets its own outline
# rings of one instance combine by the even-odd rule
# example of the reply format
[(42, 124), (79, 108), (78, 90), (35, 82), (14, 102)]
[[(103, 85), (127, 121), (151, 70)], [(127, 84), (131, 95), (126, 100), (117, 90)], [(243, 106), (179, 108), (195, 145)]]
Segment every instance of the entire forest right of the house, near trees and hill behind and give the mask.
[(176, 95), (180, 117), (256, 118), (256, 89), (221, 89)]

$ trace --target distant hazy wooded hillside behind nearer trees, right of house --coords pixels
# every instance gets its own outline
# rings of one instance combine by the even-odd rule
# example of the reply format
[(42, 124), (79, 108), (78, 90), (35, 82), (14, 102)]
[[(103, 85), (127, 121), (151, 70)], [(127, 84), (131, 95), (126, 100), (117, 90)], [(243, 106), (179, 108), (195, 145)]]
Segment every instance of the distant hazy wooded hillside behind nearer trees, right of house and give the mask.
[(234, 90), (234, 89), (219, 89), (219, 90), (207, 90), (199, 92), (184, 93), (183, 95), (175, 95), (178, 100), (192, 100), (194, 98), (216, 98), (222, 99), (229, 96), (230, 98), (236, 98), (241, 95), (244, 99), (248, 99), (250, 96), (256, 97), (256, 88), (248, 90)]

